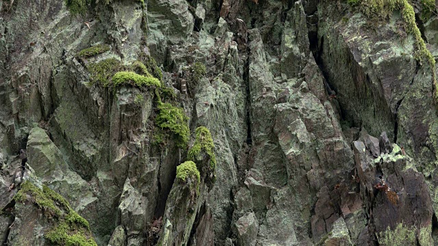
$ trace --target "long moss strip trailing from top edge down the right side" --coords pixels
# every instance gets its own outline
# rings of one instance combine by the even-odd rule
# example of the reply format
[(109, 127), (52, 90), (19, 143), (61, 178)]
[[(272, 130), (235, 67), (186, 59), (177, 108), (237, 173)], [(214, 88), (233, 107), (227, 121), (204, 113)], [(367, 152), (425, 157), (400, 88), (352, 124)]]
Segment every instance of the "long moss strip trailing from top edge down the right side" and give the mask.
[[(435, 77), (435, 58), (426, 48), (422, 38), (422, 33), (415, 23), (415, 12), (408, 0), (358, 0), (360, 1), (361, 11), (369, 18), (385, 20), (391, 16), (394, 10), (400, 10), (404, 20), (404, 29), (412, 34), (415, 40), (415, 59), (427, 61), (433, 77), (433, 98), (435, 106), (438, 108), (438, 84)], [(430, 0), (426, 0), (430, 1)], [(434, 3), (435, 5), (435, 3)], [(435, 7), (434, 7), (435, 8)]]

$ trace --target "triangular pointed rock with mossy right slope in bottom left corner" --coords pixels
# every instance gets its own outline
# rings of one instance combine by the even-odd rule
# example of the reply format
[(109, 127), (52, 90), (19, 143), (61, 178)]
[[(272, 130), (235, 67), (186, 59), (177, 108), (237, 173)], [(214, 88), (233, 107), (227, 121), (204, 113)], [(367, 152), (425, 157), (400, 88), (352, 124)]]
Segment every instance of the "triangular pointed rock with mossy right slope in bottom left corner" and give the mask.
[(71, 241), (96, 245), (88, 221), (64, 197), (38, 181), (30, 167), (24, 180), (14, 196), (8, 245), (64, 245)]

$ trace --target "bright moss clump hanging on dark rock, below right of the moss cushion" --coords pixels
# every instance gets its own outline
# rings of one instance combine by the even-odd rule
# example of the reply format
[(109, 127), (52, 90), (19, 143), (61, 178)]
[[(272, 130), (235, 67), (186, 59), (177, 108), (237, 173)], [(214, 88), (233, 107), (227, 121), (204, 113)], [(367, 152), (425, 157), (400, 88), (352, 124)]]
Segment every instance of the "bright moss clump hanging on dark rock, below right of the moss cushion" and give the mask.
[(170, 130), (176, 136), (177, 146), (185, 148), (189, 141), (190, 130), (188, 117), (180, 107), (175, 107), (168, 102), (158, 101), (159, 113), (156, 123), (162, 129)]

